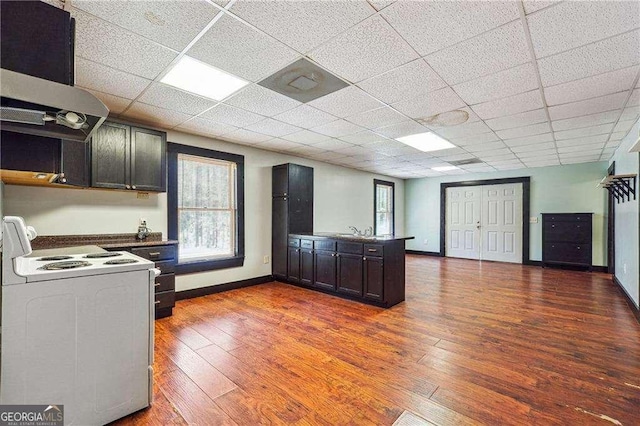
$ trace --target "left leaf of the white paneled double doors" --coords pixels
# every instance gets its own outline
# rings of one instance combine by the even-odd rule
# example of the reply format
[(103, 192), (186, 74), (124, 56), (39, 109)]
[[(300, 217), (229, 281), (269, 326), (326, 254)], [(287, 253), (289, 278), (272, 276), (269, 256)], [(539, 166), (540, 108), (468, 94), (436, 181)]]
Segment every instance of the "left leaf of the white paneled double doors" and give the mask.
[(447, 188), (446, 256), (480, 258), (481, 187)]

